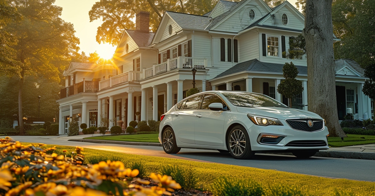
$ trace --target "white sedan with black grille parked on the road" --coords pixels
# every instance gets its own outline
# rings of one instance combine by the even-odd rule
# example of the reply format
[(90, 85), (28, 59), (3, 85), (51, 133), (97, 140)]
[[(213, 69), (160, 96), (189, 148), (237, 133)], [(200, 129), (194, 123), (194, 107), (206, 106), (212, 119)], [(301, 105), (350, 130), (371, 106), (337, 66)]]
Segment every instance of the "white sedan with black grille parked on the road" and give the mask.
[(160, 119), (159, 141), (168, 154), (204, 148), (229, 151), (235, 159), (268, 152), (307, 158), (329, 148), (323, 118), (258, 93), (205, 91), (183, 99)]

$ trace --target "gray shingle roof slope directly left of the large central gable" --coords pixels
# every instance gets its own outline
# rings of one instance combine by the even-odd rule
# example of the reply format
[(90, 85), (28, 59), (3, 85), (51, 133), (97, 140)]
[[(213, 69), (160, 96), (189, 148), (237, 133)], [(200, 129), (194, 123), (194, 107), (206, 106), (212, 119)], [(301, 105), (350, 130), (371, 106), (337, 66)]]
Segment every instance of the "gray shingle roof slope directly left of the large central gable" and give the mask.
[(210, 17), (188, 13), (166, 11), (181, 28), (205, 29), (210, 24)]

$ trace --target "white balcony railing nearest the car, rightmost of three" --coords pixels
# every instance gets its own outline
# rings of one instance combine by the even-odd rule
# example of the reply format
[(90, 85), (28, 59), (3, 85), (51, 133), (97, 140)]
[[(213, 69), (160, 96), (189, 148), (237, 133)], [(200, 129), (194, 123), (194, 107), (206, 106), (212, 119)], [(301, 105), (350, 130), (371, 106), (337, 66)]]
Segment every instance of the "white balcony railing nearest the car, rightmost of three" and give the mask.
[(150, 78), (173, 69), (205, 69), (207, 66), (207, 59), (205, 58), (191, 58), (191, 57), (177, 57), (168, 59), (166, 62), (153, 65), (150, 68), (143, 69), (144, 78)]

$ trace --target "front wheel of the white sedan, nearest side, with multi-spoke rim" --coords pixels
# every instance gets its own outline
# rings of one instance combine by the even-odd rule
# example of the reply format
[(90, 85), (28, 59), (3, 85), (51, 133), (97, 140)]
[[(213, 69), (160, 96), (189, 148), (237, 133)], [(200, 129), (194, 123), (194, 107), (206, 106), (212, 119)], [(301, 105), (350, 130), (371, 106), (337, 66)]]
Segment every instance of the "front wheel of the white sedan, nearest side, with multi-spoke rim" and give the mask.
[(254, 156), (249, 134), (242, 126), (235, 126), (229, 131), (226, 146), (234, 159), (250, 159)]

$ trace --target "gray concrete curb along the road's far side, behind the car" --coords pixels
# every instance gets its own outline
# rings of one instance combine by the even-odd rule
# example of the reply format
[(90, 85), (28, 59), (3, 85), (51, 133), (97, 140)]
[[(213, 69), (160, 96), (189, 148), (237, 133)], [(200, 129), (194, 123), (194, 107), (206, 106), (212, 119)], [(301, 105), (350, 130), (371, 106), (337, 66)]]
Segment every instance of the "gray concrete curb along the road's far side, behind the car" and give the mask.
[[(122, 144), (122, 145), (157, 146), (157, 147), (162, 146), (162, 144), (159, 144), (159, 143), (121, 142), (121, 141), (98, 140), (98, 139), (69, 139), (68, 141), (90, 142), (90, 143), (97, 143), (97, 144)], [(275, 154), (286, 154), (286, 155), (293, 156), (293, 154), (291, 153), (275, 153)], [(341, 150), (320, 150), (317, 154), (315, 154), (314, 157), (375, 160), (375, 153), (358, 152), (358, 151), (341, 151)]]

